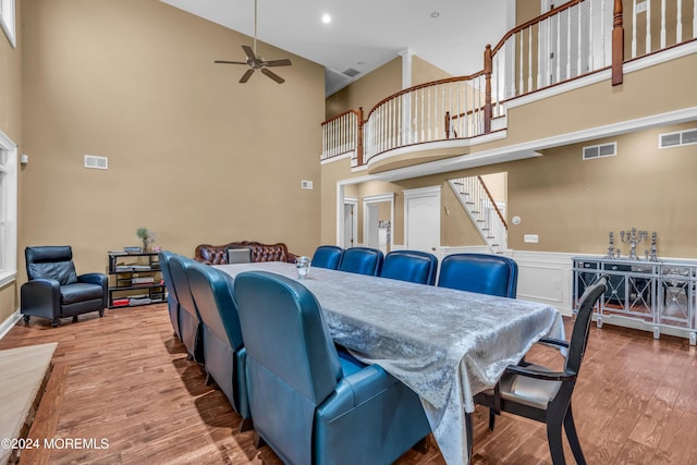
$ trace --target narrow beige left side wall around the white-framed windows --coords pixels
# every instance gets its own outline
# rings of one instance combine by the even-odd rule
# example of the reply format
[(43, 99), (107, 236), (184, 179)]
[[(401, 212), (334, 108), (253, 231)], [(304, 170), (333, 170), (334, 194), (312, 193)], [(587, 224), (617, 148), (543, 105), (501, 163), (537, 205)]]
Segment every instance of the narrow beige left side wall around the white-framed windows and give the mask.
[[(5, 35), (0, 32), (0, 131), (10, 137), (22, 150), (22, 50), (20, 37), (22, 24), (22, 0), (16, 0), (16, 48), (12, 48)], [(19, 166), (19, 163), (17, 163)], [(19, 180), (21, 183), (22, 181)], [(22, 219), (19, 218), (20, 234)], [(0, 289), (0, 323), (20, 306), (16, 283)]]

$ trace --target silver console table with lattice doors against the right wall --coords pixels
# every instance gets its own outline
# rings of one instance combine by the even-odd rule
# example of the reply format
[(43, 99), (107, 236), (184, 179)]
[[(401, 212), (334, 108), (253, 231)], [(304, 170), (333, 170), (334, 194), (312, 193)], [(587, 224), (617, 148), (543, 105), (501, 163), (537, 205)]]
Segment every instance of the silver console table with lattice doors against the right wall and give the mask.
[[(574, 310), (598, 274), (608, 274), (608, 291), (594, 313), (598, 328), (624, 320), (631, 327), (689, 338), (697, 344), (697, 261), (627, 260), (601, 256), (573, 257)], [(615, 321), (613, 321), (615, 320)]]

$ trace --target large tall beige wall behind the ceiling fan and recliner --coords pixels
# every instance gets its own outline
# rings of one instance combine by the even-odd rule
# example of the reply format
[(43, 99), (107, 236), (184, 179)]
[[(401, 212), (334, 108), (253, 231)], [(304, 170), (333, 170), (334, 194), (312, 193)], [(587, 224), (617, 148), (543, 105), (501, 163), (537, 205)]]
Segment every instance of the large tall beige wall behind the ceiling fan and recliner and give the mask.
[[(285, 83), (239, 84), (243, 66), (213, 60), (241, 59), (252, 39), (157, 0), (34, 0), (24, 25), (20, 250), (71, 244), (86, 272), (138, 245), (139, 227), (187, 256), (200, 243), (319, 244), (321, 66), (259, 44), (292, 59)], [(83, 168), (85, 154), (109, 170)]]

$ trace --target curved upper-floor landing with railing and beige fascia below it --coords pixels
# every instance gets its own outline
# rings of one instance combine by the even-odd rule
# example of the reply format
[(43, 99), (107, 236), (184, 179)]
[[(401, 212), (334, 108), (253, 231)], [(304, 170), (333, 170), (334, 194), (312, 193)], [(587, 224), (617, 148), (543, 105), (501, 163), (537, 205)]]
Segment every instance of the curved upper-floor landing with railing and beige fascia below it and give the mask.
[(487, 46), (472, 75), (328, 120), (322, 162), (420, 175), (697, 120), (696, 12), (694, 0), (570, 1)]

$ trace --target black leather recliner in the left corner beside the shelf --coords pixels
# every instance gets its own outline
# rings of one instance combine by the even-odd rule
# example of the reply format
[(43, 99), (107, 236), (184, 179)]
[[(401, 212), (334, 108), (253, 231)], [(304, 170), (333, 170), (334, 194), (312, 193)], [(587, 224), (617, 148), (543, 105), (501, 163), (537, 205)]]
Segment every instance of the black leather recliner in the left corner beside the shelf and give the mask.
[(50, 318), (57, 327), (61, 318), (89, 311), (103, 316), (108, 305), (109, 281), (103, 273), (77, 276), (73, 250), (65, 246), (26, 247), (28, 282), (22, 285), (21, 313), (25, 325), (29, 317)]

